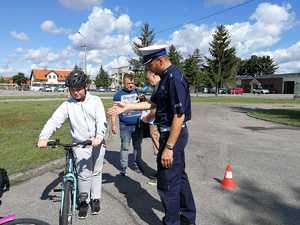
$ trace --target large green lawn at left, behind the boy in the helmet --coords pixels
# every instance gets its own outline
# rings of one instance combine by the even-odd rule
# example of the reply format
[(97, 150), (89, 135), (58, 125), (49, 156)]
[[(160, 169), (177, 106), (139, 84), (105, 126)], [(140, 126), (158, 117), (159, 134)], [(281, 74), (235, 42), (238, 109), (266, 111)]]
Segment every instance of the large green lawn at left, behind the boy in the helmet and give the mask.
[[(110, 106), (111, 100), (103, 100)], [(35, 147), (38, 135), (62, 101), (0, 102), (0, 168), (14, 174), (63, 156), (62, 150)], [(53, 138), (71, 140), (67, 122)]]

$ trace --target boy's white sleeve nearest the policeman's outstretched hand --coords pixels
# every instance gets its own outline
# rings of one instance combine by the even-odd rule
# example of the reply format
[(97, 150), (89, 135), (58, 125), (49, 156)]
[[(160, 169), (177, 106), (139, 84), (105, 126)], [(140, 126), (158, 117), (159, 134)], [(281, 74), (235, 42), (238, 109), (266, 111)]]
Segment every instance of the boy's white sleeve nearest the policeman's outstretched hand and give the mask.
[(98, 98), (96, 104), (96, 129), (96, 137), (103, 139), (107, 130), (107, 122), (105, 109), (100, 98)]

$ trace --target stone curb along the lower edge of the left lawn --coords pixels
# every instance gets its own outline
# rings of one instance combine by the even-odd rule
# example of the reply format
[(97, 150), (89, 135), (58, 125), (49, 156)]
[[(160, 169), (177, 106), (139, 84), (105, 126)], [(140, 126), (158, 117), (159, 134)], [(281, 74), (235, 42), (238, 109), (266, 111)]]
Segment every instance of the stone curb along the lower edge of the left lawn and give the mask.
[[(105, 140), (109, 143), (112, 137), (110, 121), (107, 122), (107, 135)], [(10, 185), (19, 184), (21, 182), (27, 181), (30, 178), (37, 177), (43, 175), (54, 169), (61, 169), (65, 165), (65, 158), (56, 159), (54, 161), (50, 161), (40, 167), (33, 168), (24, 172), (20, 172), (17, 174), (12, 174), (9, 176)]]

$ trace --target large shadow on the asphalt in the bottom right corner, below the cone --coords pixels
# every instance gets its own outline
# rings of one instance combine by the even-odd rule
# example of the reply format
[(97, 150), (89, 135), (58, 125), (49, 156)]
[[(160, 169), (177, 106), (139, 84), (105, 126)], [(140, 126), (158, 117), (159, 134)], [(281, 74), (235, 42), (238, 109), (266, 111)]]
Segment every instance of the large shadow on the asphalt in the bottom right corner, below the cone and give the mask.
[[(300, 187), (291, 188), (295, 199), (300, 201)], [(238, 222), (217, 215), (223, 225), (297, 225), (300, 221), (300, 207), (285, 202), (274, 192), (259, 187), (255, 182), (242, 180), (237, 192), (228, 192), (234, 204), (246, 210), (247, 215)], [(298, 202), (299, 203), (299, 202)]]

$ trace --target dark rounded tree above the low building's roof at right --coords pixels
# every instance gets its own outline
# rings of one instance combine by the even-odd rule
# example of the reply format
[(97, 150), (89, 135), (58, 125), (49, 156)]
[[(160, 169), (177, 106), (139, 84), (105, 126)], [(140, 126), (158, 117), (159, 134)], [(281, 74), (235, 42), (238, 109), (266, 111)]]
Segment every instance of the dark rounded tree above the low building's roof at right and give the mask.
[(277, 69), (278, 65), (270, 56), (252, 55), (249, 59), (242, 60), (238, 74), (258, 77), (264, 74), (273, 74)]

